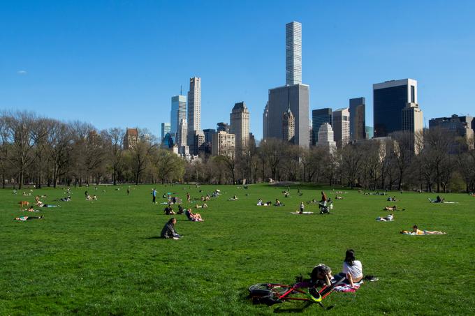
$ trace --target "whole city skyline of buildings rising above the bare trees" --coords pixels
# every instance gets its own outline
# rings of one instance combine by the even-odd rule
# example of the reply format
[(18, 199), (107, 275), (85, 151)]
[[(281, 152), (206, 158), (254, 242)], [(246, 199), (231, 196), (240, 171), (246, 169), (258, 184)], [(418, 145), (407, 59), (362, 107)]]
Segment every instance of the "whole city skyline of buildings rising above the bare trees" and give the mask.
[[(387, 137), (397, 131), (417, 133), (424, 128), (423, 111), (418, 105), (417, 81), (407, 78), (373, 84), (373, 123), (366, 126), (365, 97), (350, 98), (348, 107), (312, 110), (309, 117), (309, 85), (302, 84), (302, 24), (286, 24), (286, 82), (268, 90), (263, 110), (263, 142), (271, 138), (304, 148), (324, 146), (328, 151), (349, 142)], [(170, 123), (162, 123), (164, 146), (190, 157), (199, 153), (226, 154), (235, 157), (255, 146), (249, 127), (249, 109), (244, 102), (235, 103), (229, 124), (217, 123), (216, 130), (201, 130), (201, 78), (191, 77), (187, 97), (173, 96)], [(310, 121), (312, 123), (310, 123)], [(455, 130), (467, 139), (473, 137), (472, 116), (452, 116), (430, 120), (430, 127)], [(457, 127), (453, 127), (457, 126)], [(414, 140), (415, 143), (415, 140)], [(233, 149), (231, 149), (233, 147)]]

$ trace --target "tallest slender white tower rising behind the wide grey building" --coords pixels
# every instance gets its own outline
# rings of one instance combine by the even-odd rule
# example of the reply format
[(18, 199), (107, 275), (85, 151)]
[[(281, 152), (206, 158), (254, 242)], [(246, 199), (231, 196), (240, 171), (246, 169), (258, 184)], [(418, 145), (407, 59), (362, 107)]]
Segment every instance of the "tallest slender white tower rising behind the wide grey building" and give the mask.
[(302, 83), (302, 24), (290, 22), (285, 26), (286, 33), (286, 84)]

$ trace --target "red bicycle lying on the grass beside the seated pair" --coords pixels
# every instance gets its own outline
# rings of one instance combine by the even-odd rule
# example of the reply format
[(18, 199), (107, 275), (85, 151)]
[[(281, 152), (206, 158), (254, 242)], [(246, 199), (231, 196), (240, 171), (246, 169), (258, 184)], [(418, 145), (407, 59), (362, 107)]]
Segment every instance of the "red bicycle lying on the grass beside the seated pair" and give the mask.
[(324, 307), (321, 301), (323, 301), (337, 285), (341, 284), (344, 279), (345, 278), (342, 277), (336, 280), (335, 283), (332, 283), (332, 285), (322, 287), (320, 291), (316, 291), (315, 287), (309, 287), (309, 289), (300, 287), (300, 283), (295, 283), (294, 285), (257, 283), (249, 287), (249, 294), (254, 303), (265, 303), (268, 306), (283, 303), (284, 301), (307, 301), (309, 304), (318, 303), (321, 307)]

